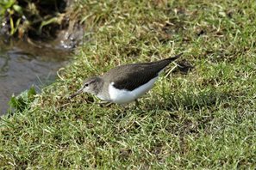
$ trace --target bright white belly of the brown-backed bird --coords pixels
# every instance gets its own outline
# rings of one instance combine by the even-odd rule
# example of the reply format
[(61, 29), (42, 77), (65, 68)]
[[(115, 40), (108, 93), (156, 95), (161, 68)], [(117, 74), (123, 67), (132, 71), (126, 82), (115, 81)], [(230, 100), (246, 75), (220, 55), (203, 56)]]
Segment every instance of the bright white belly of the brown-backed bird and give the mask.
[(115, 88), (114, 82), (111, 82), (109, 84), (109, 96), (110, 100), (113, 103), (117, 104), (124, 104), (131, 102), (137, 98), (139, 98), (141, 95), (145, 94), (148, 90), (150, 90), (153, 87), (153, 83), (158, 79), (158, 76), (153, 78), (151, 81), (147, 82), (146, 84), (143, 84), (139, 88), (135, 88), (133, 91), (128, 91), (125, 89), (117, 89)]

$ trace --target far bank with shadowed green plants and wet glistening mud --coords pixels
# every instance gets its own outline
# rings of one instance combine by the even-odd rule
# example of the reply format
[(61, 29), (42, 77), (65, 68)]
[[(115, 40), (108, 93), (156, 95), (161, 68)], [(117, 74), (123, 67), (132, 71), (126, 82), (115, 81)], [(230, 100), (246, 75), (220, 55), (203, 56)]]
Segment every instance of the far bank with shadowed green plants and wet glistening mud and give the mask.
[(83, 37), (78, 5), (70, 0), (4, 0), (0, 3), (0, 34), (40, 48), (72, 49)]

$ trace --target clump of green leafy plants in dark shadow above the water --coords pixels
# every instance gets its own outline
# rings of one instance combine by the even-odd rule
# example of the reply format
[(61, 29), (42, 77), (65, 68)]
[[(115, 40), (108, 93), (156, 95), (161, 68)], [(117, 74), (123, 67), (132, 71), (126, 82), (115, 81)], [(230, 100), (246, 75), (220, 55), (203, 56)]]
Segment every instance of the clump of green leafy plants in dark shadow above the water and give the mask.
[(3, 30), (11, 36), (49, 39), (65, 27), (66, 2), (4, 0), (0, 3)]

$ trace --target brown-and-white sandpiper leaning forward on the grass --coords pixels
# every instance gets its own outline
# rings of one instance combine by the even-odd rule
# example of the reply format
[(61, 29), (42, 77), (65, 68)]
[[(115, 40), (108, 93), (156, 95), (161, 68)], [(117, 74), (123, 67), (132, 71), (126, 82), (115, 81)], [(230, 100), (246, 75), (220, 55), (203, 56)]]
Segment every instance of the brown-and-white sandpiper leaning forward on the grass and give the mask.
[(100, 100), (116, 104), (127, 104), (136, 101), (153, 88), (160, 73), (165, 67), (183, 54), (155, 62), (124, 64), (104, 73), (103, 76), (87, 78), (82, 88), (69, 96), (71, 100), (78, 94), (89, 93)]

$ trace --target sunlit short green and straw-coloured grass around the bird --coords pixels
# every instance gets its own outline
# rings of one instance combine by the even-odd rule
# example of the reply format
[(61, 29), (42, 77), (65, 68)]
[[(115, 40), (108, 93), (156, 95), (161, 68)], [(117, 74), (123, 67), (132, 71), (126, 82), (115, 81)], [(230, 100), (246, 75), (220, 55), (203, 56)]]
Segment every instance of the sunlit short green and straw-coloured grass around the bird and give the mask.
[[(256, 167), (256, 3), (78, 3), (86, 40), (32, 106), (1, 118), (0, 167)], [(171, 64), (140, 109), (66, 100), (88, 76), (179, 52), (193, 69)]]

